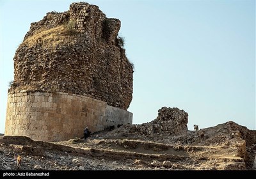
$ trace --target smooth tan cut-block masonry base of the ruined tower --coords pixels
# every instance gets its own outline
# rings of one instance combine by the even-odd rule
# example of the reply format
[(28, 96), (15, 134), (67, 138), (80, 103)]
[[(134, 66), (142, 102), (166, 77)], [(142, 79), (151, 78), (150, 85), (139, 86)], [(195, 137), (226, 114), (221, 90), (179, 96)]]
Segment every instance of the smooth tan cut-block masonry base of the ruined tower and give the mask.
[(83, 137), (111, 125), (132, 123), (132, 113), (106, 102), (70, 93), (9, 92), (5, 136), (42, 141)]

